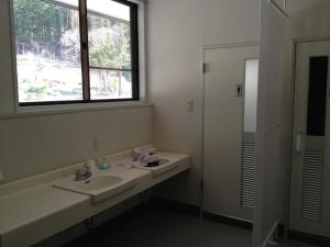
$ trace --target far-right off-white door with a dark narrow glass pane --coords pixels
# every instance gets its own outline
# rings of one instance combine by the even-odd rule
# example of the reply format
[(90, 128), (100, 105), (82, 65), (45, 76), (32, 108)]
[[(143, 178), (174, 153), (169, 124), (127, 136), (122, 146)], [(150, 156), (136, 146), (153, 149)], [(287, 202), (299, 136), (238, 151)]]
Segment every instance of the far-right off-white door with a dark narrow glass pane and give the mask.
[(330, 237), (330, 42), (296, 48), (289, 227)]

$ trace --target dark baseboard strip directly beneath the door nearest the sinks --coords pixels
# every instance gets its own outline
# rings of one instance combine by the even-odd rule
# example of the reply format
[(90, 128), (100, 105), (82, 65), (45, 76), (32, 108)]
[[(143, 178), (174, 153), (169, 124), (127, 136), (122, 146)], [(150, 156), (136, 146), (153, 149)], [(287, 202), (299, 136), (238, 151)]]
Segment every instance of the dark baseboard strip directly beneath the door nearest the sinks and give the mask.
[(235, 226), (235, 227), (240, 227), (243, 229), (251, 229), (253, 227), (252, 222), (242, 220), (242, 218), (235, 218), (235, 217), (230, 217), (227, 215), (220, 215), (220, 214), (215, 214), (215, 213), (210, 213), (210, 212), (202, 212), (202, 218), (208, 220), (208, 221), (212, 221), (212, 222), (218, 222), (221, 224), (226, 224), (226, 225), (230, 225), (230, 226)]

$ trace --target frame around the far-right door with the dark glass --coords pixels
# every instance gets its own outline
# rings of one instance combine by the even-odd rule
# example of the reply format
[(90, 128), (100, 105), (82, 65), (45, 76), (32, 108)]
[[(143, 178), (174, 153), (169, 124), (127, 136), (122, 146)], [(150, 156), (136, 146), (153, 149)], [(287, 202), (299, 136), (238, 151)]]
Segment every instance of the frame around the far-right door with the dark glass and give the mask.
[(290, 47), (292, 47), (292, 53), (290, 53), (290, 88), (292, 88), (292, 99), (290, 99), (290, 160), (289, 160), (289, 167), (288, 167), (288, 173), (287, 173), (287, 189), (285, 191), (286, 193), (286, 205), (285, 205), (285, 212), (284, 212), (284, 235), (285, 237), (288, 237), (288, 232), (290, 231), (289, 228), (289, 211), (290, 211), (290, 195), (292, 195), (292, 173), (293, 173), (293, 164), (294, 164), (294, 153), (293, 153), (293, 143), (295, 138), (295, 133), (294, 133), (294, 115), (295, 115), (295, 99), (296, 99), (296, 57), (297, 57), (297, 46), (298, 44), (301, 43), (312, 43), (312, 42), (329, 42), (330, 36), (315, 36), (315, 37), (298, 37), (298, 38), (293, 38), (290, 41)]

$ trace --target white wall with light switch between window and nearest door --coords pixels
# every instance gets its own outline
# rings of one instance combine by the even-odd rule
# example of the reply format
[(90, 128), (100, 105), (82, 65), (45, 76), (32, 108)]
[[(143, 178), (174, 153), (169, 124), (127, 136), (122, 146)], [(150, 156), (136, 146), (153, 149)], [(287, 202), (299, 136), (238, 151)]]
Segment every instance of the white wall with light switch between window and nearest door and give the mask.
[[(202, 47), (258, 38), (258, 0), (148, 0), (147, 77), (154, 103), (154, 141), (191, 154), (193, 170), (160, 193), (198, 204), (202, 172)], [(185, 102), (193, 99), (193, 113)]]

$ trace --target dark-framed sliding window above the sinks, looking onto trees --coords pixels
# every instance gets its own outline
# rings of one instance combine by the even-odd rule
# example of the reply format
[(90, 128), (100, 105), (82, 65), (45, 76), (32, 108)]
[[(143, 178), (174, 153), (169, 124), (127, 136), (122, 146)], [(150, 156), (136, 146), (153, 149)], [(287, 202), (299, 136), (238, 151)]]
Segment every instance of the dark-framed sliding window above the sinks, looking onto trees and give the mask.
[(138, 5), (13, 0), (20, 105), (139, 100)]

